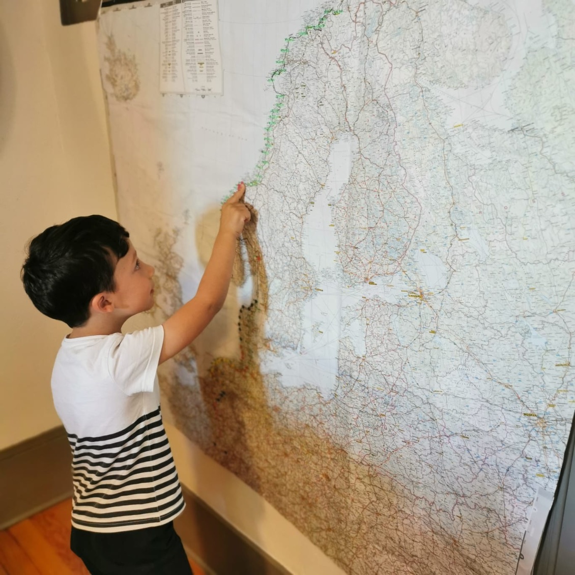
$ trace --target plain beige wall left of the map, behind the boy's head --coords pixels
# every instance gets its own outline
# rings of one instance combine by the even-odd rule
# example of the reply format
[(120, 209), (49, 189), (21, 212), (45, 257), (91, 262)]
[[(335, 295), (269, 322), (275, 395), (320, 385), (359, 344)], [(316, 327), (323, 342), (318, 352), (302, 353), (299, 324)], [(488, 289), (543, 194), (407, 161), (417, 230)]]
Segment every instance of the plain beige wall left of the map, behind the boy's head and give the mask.
[(26, 297), (24, 246), (70, 217), (116, 217), (95, 25), (59, 14), (0, 2), (0, 449), (60, 424), (50, 373), (68, 328)]

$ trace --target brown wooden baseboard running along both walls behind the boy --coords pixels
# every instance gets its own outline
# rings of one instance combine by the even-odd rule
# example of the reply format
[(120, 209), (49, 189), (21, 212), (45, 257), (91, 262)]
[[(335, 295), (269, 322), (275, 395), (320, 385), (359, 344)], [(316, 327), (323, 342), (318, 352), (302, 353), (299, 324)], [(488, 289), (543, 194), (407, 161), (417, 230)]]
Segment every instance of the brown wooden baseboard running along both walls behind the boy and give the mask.
[[(71, 497), (72, 456), (63, 427), (0, 451), (0, 530)], [(182, 486), (175, 528), (208, 575), (289, 575), (223, 517)]]

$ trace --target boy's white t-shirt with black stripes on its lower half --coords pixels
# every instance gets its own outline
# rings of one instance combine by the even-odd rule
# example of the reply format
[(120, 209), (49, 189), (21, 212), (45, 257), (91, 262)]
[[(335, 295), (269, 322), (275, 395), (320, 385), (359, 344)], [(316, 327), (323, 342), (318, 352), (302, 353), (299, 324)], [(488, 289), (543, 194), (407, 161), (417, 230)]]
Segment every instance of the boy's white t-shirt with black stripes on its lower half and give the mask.
[(170, 522), (184, 502), (160, 413), (163, 327), (64, 338), (52, 396), (72, 447), (72, 525), (130, 531)]

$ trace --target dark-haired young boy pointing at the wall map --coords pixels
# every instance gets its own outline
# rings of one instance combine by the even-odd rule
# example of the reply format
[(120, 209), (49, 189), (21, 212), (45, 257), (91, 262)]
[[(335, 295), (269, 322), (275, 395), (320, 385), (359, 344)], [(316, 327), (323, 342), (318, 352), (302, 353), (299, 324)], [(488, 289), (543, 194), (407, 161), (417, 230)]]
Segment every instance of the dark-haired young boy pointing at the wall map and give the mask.
[(236, 240), (250, 219), (243, 182), (222, 206), (196, 296), (162, 325), (122, 335), (154, 304), (154, 268), (104, 216), (77, 217), (30, 242), (22, 281), (33, 304), (65, 321), (52, 372), (72, 447), (72, 551), (93, 575), (191, 574), (173, 520), (184, 502), (159, 405), (159, 363), (189, 345), (224, 303)]

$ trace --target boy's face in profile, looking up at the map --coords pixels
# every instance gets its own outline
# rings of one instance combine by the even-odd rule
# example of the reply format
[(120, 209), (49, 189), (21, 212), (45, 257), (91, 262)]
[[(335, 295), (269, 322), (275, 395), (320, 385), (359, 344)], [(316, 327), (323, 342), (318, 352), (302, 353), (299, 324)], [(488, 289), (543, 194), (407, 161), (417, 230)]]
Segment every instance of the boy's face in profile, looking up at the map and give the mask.
[(114, 309), (121, 316), (131, 317), (154, 305), (154, 267), (138, 258), (128, 239), (128, 253), (118, 260), (114, 271), (116, 290), (112, 294)]

